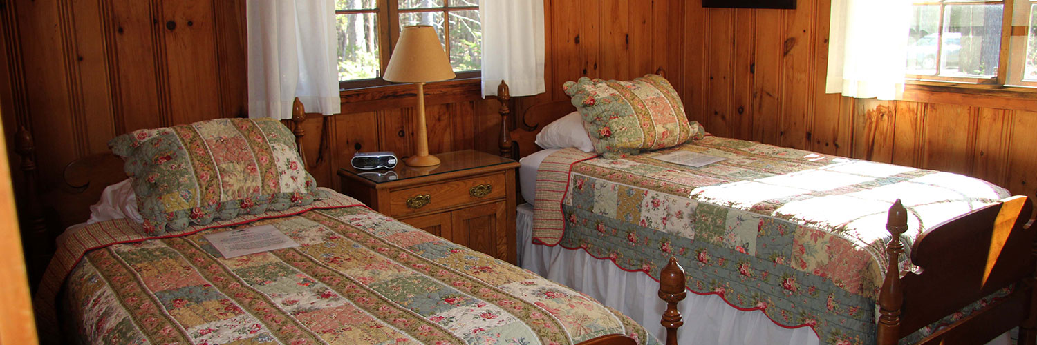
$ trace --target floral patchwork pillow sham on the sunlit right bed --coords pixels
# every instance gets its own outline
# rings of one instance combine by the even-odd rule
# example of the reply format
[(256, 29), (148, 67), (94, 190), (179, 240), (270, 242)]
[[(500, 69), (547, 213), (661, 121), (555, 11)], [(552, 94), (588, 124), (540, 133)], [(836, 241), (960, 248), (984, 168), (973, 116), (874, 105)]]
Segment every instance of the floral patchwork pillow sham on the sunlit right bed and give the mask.
[(688, 121), (677, 92), (658, 75), (628, 82), (583, 77), (563, 87), (594, 150), (606, 159), (673, 147), (705, 135), (698, 122)]

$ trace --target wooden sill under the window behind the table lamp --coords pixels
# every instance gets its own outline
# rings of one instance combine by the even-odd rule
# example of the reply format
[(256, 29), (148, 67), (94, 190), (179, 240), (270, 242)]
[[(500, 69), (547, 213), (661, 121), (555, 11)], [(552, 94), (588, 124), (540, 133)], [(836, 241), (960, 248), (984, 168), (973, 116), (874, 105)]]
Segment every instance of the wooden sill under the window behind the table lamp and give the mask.
[[(414, 84), (391, 84), (339, 91), (342, 113), (363, 113), (417, 105)], [(452, 79), (425, 84), (425, 106), (482, 99), (479, 78)]]

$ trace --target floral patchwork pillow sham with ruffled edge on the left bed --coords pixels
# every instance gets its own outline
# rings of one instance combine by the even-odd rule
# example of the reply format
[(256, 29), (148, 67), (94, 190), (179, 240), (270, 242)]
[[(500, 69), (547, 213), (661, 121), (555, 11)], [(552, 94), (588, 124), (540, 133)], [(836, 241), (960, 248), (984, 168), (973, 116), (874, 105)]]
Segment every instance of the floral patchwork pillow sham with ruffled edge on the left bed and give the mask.
[(149, 235), (313, 202), (295, 137), (273, 118), (140, 130), (108, 142), (125, 162)]

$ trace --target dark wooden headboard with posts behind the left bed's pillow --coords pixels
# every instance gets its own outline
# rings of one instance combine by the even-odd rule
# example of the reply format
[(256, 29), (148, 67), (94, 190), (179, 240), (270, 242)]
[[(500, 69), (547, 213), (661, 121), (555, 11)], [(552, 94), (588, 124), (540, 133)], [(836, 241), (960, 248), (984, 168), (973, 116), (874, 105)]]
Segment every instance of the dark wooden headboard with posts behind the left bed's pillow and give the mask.
[[(306, 163), (302, 139), (302, 122), (306, 120), (303, 104), (296, 98), (291, 119), (282, 120), (296, 136), (299, 155)], [(15, 135), (15, 150), (21, 156), (24, 176), (24, 202), (19, 203), (19, 224), (26, 253), (26, 267), (33, 288), (54, 255), (55, 239), (71, 225), (86, 222), (90, 205), (101, 199), (105, 188), (127, 178), (122, 160), (112, 154), (94, 153), (65, 166), (61, 185), (40, 189), (36, 171), (36, 152), (32, 135), (24, 126)]]

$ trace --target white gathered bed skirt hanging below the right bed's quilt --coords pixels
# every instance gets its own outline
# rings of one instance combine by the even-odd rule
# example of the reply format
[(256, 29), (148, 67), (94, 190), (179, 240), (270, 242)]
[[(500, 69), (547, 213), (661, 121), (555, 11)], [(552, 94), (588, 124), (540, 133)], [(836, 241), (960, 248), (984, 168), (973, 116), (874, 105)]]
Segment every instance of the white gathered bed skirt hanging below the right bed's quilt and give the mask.
[[(658, 339), (666, 339), (666, 329), (660, 324), (666, 304), (655, 293), (657, 282), (644, 272), (619, 269), (612, 261), (581, 250), (533, 245), (530, 204), (518, 205), (515, 222), (521, 267), (586, 293), (629, 316)], [(810, 327), (782, 327), (760, 311), (734, 309), (717, 295), (688, 293), (678, 308), (684, 318), (684, 325), (677, 332), (682, 344), (819, 344)], [(1006, 333), (987, 345), (1007, 345), (1010, 339)]]

